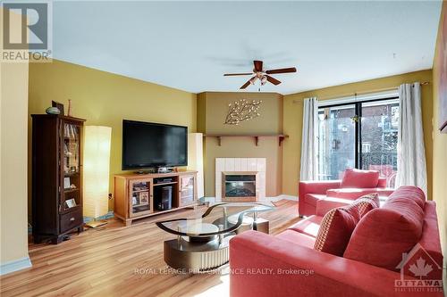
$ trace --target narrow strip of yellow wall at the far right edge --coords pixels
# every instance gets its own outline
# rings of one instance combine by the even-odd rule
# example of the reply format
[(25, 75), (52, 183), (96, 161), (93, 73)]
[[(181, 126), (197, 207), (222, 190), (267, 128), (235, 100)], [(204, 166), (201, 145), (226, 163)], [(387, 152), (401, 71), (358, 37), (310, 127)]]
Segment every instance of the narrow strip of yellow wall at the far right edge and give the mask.
[[(443, 15), (447, 13), (447, 2), (443, 2)], [(447, 30), (447, 28), (444, 28)], [(438, 59), (439, 46), (441, 35), (441, 22), (440, 30), (438, 32), (438, 39), (436, 43), (436, 52), (434, 55), (434, 67), (433, 67), (433, 115), (434, 115), (434, 138), (433, 138), (433, 200), (436, 202), (436, 210), (439, 220), (439, 231), (441, 233), (441, 243), (443, 245), (444, 254), (444, 267), (447, 262), (447, 133), (441, 134), (439, 132), (439, 93), (438, 86), (441, 79), (438, 65), (436, 61)]]

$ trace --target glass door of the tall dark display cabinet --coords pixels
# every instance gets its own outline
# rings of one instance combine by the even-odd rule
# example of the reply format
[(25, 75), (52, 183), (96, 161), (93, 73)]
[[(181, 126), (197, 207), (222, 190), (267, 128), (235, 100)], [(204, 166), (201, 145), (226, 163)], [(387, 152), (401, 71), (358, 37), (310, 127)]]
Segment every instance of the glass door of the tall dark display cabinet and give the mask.
[(61, 186), (61, 210), (79, 208), (80, 195), (80, 133), (81, 127), (63, 122), (62, 125), (62, 160), (63, 180)]

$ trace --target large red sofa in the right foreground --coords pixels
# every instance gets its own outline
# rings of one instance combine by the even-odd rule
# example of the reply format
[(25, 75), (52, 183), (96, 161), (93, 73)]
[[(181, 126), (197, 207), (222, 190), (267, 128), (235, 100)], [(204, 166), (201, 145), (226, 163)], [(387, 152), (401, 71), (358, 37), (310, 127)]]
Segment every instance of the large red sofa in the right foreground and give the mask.
[[(421, 200), (418, 202), (411, 201), (419, 198)], [(392, 217), (390, 222), (379, 220), (375, 223), (376, 228), (373, 226), (373, 229), (368, 231), (371, 240), (363, 239), (361, 230), (365, 230), (364, 226), (368, 220), (373, 219), (374, 222), (374, 217), (383, 214), (397, 216), (396, 224), (399, 225), (403, 220), (401, 218), (405, 218), (417, 208), (420, 218), (417, 219), (417, 215), (409, 216), (407, 222), (414, 223), (415, 226), (420, 225), (420, 234), (411, 233), (420, 236), (417, 237), (415, 246), (420, 244), (436, 262), (443, 263), (435, 204), (426, 202), (420, 189), (409, 186), (396, 190), (383, 207), (367, 212), (365, 217), (360, 219), (346, 252), (352, 250), (355, 253), (356, 244), (358, 247), (360, 243), (362, 248), (359, 252), (368, 252), (368, 257), (370, 251), (375, 251), (371, 254), (375, 258), (378, 257), (378, 260), (382, 260), (383, 256), (384, 262), (389, 260), (389, 256), (395, 257), (396, 254), (401, 255), (401, 252), (409, 252), (399, 251), (401, 246), (393, 248), (393, 245), (388, 243), (398, 238), (393, 244), (407, 244), (410, 241), (401, 239), (401, 234), (404, 232), (405, 235), (411, 236), (405, 233), (409, 227), (400, 229), (398, 226), (397, 231), (390, 227), (390, 224), (396, 223)], [(279, 235), (249, 231), (232, 238), (231, 296), (443, 296), (439, 288), (433, 292), (409, 291), (408, 288), (405, 289), (407, 291), (401, 292), (401, 287), (395, 286), (396, 281), (401, 277), (410, 281), (416, 281), (418, 278), (401, 275), (396, 269), (380, 267), (384, 266), (382, 263), (368, 264), (377, 260), (373, 259), (374, 257), (360, 261), (346, 258), (346, 252), (343, 257), (339, 257), (316, 251), (313, 245), (321, 220), (321, 216), (311, 216)], [(442, 279), (442, 268), (433, 268), (437, 269), (433, 272), (433, 277)]]

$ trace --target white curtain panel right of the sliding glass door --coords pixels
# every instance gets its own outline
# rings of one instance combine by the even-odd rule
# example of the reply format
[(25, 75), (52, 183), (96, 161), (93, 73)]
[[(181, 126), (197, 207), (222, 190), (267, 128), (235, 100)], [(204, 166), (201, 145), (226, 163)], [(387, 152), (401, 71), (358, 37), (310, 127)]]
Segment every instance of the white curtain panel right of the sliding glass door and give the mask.
[(422, 130), (420, 84), (399, 87), (397, 186), (418, 186), (426, 194), (426, 151)]

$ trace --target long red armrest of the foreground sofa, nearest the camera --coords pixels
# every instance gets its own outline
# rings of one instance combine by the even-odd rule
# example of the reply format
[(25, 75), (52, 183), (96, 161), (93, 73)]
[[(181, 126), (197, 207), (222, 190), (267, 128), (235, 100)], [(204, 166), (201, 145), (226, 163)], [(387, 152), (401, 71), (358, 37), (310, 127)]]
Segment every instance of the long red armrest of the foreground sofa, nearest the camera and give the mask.
[(397, 272), (256, 231), (232, 238), (230, 270), (232, 297), (417, 296), (417, 293), (395, 292), (394, 281), (400, 279)]

